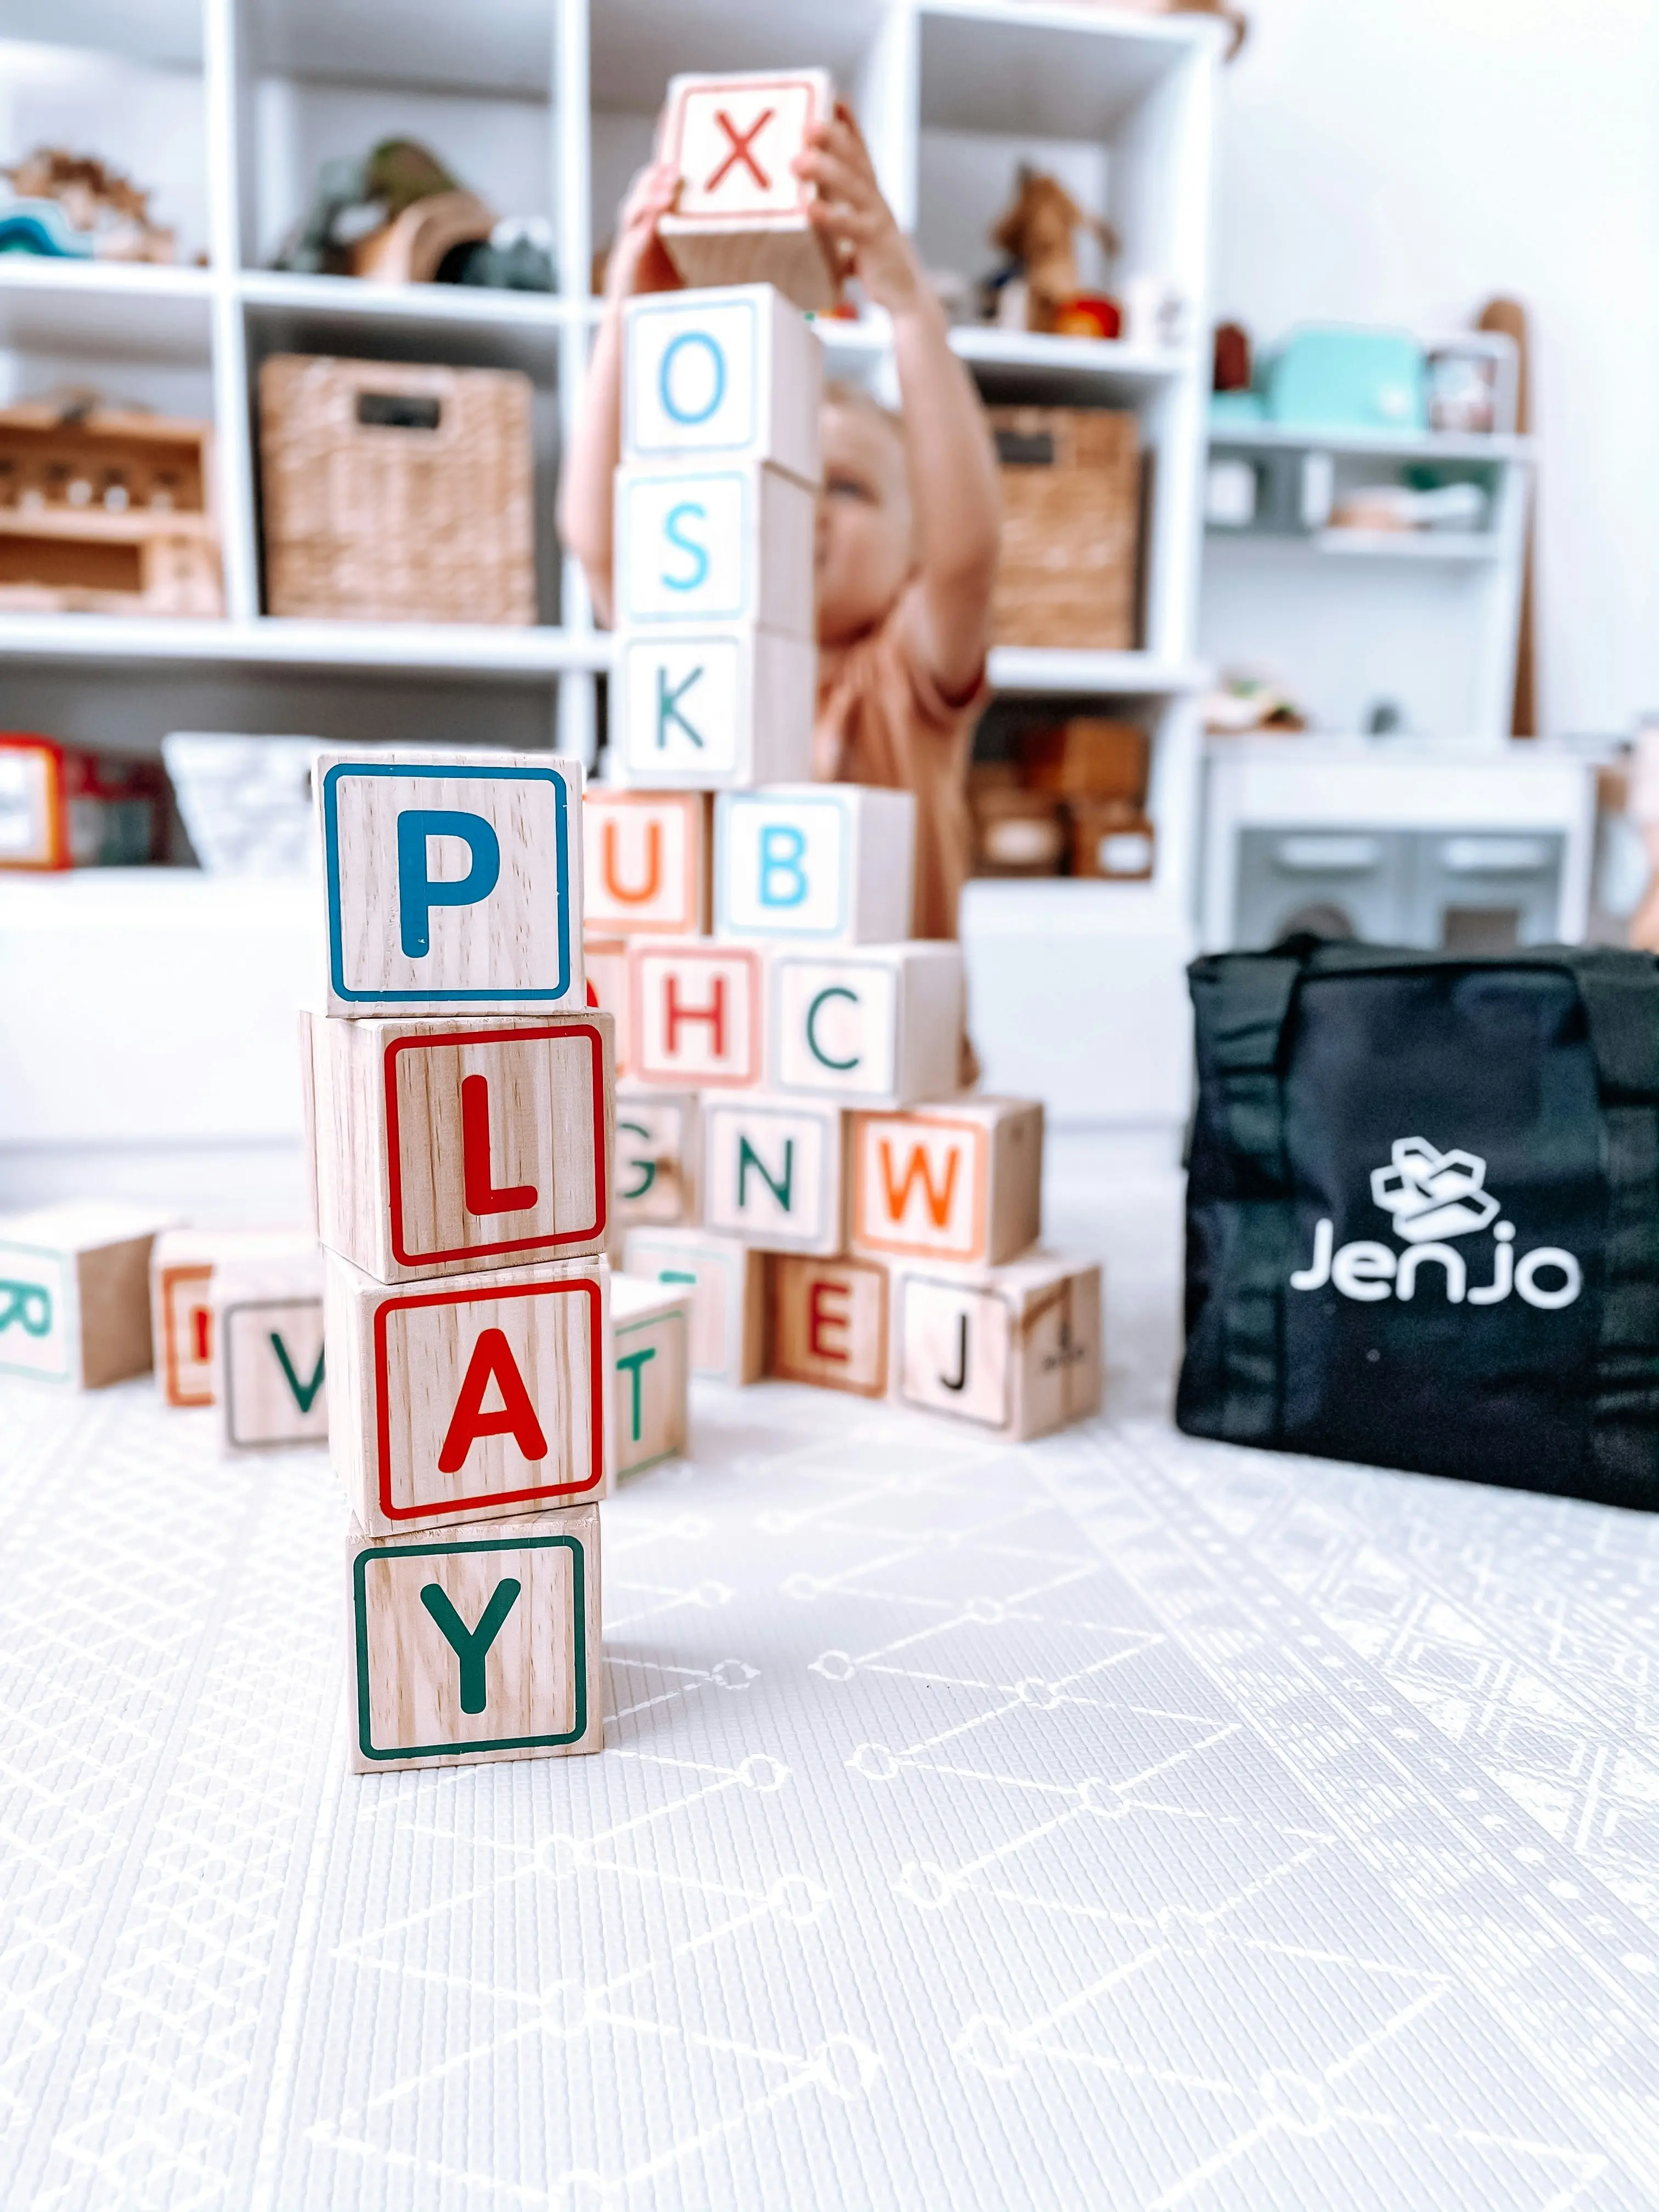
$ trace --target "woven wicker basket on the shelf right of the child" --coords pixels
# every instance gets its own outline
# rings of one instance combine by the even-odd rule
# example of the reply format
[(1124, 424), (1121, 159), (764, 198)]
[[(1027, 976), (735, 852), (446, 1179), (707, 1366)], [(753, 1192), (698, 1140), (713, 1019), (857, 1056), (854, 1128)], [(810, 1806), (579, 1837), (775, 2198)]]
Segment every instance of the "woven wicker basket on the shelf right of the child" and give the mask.
[(993, 407), (991, 431), (1002, 465), (998, 644), (1128, 650), (1141, 535), (1135, 416)]

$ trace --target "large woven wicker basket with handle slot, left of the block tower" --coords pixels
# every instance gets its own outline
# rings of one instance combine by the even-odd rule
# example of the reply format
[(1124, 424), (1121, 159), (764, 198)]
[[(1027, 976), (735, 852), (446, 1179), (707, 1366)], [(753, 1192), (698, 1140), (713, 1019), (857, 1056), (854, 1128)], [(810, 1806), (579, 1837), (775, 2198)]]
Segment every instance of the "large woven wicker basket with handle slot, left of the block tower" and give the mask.
[(535, 622), (529, 376), (274, 354), (259, 438), (272, 615)]

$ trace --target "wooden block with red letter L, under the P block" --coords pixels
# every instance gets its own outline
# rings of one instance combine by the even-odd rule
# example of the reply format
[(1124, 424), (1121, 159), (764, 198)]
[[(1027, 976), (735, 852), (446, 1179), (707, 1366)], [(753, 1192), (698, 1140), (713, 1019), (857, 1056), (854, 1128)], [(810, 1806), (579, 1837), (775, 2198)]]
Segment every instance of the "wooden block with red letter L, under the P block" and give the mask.
[(321, 1239), (383, 1283), (602, 1252), (613, 1031), (312, 1020)]

